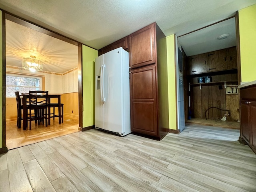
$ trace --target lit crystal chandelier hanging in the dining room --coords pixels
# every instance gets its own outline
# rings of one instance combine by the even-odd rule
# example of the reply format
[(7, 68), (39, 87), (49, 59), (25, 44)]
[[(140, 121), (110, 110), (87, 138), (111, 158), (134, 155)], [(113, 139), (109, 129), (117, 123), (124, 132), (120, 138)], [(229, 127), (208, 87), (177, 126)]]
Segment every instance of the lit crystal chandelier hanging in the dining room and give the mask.
[(22, 59), (22, 69), (30, 70), (32, 72), (42, 71), (43, 70), (43, 62), (35, 59), (35, 56), (30, 55), (31, 58), (23, 58)]

